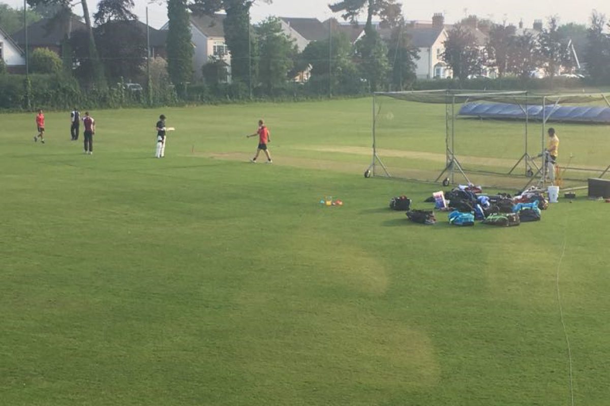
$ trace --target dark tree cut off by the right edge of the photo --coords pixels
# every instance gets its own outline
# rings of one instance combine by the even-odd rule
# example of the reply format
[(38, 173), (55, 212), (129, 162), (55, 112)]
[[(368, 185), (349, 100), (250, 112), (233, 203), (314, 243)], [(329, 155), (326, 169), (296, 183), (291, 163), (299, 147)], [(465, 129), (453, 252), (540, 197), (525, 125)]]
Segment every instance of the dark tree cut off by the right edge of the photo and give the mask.
[(587, 29), (587, 70), (597, 83), (610, 79), (610, 37), (604, 32), (606, 16), (593, 10)]

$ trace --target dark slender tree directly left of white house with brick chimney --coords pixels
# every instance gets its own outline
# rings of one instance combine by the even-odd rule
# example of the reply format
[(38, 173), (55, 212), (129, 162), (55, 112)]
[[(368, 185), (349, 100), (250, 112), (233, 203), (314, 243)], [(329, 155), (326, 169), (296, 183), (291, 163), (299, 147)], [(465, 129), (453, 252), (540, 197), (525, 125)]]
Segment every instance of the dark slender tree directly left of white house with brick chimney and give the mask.
[(419, 50), (411, 45), (411, 37), (406, 32), (406, 23), (401, 19), (392, 29), (388, 45), (388, 60), (391, 64), (390, 85), (392, 90), (402, 91), (415, 81), (415, 61)]

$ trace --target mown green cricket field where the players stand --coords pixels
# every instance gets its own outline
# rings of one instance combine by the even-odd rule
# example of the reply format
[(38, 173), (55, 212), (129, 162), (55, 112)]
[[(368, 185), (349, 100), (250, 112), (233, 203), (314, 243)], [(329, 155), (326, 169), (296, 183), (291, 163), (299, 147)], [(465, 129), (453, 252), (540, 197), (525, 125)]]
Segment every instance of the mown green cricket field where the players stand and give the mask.
[(66, 113), (45, 145), (0, 116), (1, 404), (570, 405), (566, 334), (608, 404), (610, 204), (409, 223), (389, 198), (439, 186), (362, 177), (369, 99), (91, 113), (93, 156)]

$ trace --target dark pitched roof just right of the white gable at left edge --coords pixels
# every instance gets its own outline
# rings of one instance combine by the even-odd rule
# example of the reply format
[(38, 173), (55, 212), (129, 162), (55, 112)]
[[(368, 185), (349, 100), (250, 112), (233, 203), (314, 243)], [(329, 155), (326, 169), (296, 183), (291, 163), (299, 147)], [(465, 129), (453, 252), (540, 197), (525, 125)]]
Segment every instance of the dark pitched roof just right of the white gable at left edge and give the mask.
[[(71, 18), (70, 32), (87, 29), (85, 23), (76, 16)], [(27, 43), (29, 46), (57, 46), (60, 45), (68, 33), (68, 27), (57, 23), (50, 18), (43, 18), (27, 26)], [(25, 30), (22, 28), (13, 34), (13, 40), (20, 46), (26, 44)]]

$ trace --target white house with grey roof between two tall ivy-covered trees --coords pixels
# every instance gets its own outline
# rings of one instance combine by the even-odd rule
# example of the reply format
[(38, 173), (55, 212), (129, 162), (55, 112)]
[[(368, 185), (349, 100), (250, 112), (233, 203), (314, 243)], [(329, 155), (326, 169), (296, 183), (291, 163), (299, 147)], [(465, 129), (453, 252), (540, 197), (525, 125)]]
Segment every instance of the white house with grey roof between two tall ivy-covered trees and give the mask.
[[(231, 55), (224, 41), (224, 17), (224, 14), (190, 16), (191, 42), (195, 51), (193, 54), (195, 80), (203, 79), (201, 68), (210, 61), (210, 57), (217, 57), (226, 63), (226, 77), (231, 82)], [(161, 29), (169, 29), (169, 23)]]

